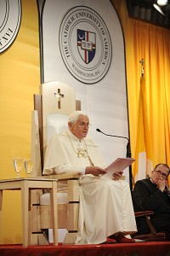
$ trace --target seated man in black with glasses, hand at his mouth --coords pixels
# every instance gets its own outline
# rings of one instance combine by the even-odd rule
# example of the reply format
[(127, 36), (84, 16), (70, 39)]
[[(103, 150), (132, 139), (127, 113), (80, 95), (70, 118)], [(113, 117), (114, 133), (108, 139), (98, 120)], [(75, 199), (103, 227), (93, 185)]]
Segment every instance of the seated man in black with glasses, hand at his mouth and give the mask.
[[(149, 178), (139, 180), (133, 189), (134, 212), (153, 211), (152, 223), (156, 231), (170, 233), (170, 188), (167, 185), (169, 166), (156, 165)], [(146, 218), (137, 218), (139, 235), (150, 233)]]

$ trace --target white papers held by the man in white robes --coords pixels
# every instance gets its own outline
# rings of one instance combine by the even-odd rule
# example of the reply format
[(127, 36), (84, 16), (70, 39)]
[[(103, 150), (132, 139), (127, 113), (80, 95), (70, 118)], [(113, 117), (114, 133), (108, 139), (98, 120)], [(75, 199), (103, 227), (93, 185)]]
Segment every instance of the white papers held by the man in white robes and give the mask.
[(133, 158), (117, 158), (114, 162), (111, 163), (110, 166), (105, 168), (107, 173), (105, 173), (102, 177), (109, 177), (112, 179), (112, 174), (114, 172), (122, 172), (128, 166), (132, 165), (133, 161), (135, 161)]

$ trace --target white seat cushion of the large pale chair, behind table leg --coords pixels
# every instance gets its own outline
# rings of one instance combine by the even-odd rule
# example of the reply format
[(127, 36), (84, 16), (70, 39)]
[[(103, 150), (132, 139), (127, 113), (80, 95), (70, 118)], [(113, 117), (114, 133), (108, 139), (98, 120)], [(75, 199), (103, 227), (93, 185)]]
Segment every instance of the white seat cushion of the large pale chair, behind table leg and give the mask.
[[(66, 192), (58, 192), (57, 193), (57, 203), (58, 204), (66, 204), (67, 203), (67, 193)], [(50, 205), (50, 194), (46, 193), (43, 194), (40, 197), (40, 205), (44, 206), (44, 205)]]

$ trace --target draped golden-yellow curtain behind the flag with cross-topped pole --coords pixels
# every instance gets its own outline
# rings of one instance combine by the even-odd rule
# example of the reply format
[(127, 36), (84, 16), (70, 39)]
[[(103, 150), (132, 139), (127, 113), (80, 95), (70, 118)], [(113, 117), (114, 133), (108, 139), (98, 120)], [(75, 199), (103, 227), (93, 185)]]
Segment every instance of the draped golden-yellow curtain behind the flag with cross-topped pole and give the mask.
[(127, 97), (132, 156), (138, 132), (140, 63), (144, 58), (145, 91), (153, 164), (170, 166), (170, 30), (128, 18), (126, 1), (112, 0), (122, 23), (127, 65)]

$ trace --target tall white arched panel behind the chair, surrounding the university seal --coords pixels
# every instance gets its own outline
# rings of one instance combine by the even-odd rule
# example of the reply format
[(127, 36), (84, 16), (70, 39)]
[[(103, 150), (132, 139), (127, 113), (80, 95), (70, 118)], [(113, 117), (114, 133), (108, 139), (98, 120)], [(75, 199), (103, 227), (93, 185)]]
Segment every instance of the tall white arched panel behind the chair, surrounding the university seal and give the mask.
[[(75, 75), (65, 67), (65, 61), (63, 61), (59, 49), (59, 44), (62, 48), (59, 42), (59, 27), (65, 14), (77, 6), (85, 6), (96, 12), (104, 20), (111, 36), (111, 48), (109, 49), (111, 66), (105, 77), (95, 84), (90, 81), (85, 84), (84, 81), (76, 79)], [(83, 26), (85, 22), (85, 18), (82, 18), (82, 23), (79, 20), (75, 26)], [(91, 31), (93, 24), (91, 22), (86, 23), (85, 30), (88, 30), (88, 25), (89, 31)], [(98, 32), (96, 32), (96, 36), (98, 36)], [(43, 82), (58, 80), (75, 88), (77, 99), (82, 102), (82, 111), (87, 112), (90, 117), (92, 127), (89, 135), (99, 144), (108, 164), (117, 157), (126, 157), (126, 139), (105, 137), (96, 131), (96, 128), (99, 128), (105, 133), (128, 137), (124, 41), (122, 27), (111, 1), (46, 0), (42, 11), (42, 39)], [(100, 54), (99, 46), (102, 45), (99, 42), (100, 39), (99, 37), (96, 38), (96, 55), (93, 61)], [(71, 41), (71, 44), (77, 43), (77, 38), (74, 40)], [(71, 46), (73, 55), (77, 51), (76, 43)], [(92, 66), (93, 61), (90, 63)], [(87, 67), (90, 65), (87, 64)], [(127, 175), (127, 173), (125, 174)]]

